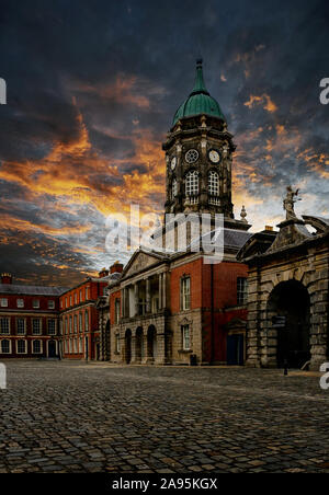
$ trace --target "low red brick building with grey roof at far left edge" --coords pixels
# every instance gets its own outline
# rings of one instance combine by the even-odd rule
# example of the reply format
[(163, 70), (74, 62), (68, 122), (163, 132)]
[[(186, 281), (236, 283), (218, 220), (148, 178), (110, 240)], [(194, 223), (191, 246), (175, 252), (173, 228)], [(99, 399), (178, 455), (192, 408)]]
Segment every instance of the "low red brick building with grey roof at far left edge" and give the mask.
[(63, 287), (0, 284), (0, 357), (60, 356), (59, 295)]

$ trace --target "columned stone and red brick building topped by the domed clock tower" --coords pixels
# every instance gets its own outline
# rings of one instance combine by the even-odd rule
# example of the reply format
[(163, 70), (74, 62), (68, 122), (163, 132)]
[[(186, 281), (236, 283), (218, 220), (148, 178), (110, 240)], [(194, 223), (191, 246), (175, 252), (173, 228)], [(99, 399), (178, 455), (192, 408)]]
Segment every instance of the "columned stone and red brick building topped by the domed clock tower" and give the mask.
[(183, 252), (163, 251), (161, 229), (155, 235), (157, 248), (135, 252), (121, 278), (109, 286), (111, 360), (241, 365), (248, 269), (237, 262), (237, 253), (251, 235), (250, 226), (242, 205), (241, 218), (234, 216), (235, 145), (219, 104), (205, 88), (200, 60), (194, 88), (177, 111), (162, 149), (164, 212), (174, 217), (174, 244), (180, 215), (198, 220), (207, 214), (209, 239), (219, 235), (216, 219), (222, 216), (224, 256), (214, 263), (205, 250), (193, 252), (202, 232), (192, 235), (192, 223)]

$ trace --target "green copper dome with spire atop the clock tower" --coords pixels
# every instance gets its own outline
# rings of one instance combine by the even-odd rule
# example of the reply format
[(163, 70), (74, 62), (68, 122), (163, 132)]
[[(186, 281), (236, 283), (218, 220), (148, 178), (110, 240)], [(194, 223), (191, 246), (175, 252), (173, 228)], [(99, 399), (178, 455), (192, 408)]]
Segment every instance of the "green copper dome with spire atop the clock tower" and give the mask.
[(219, 104), (209, 95), (208, 91), (206, 90), (203, 80), (202, 60), (196, 60), (196, 76), (194, 88), (188, 100), (185, 100), (184, 103), (181, 104), (181, 106), (174, 114), (172, 125), (174, 126), (180, 118), (192, 117), (194, 115), (202, 114), (212, 115), (225, 120)]

